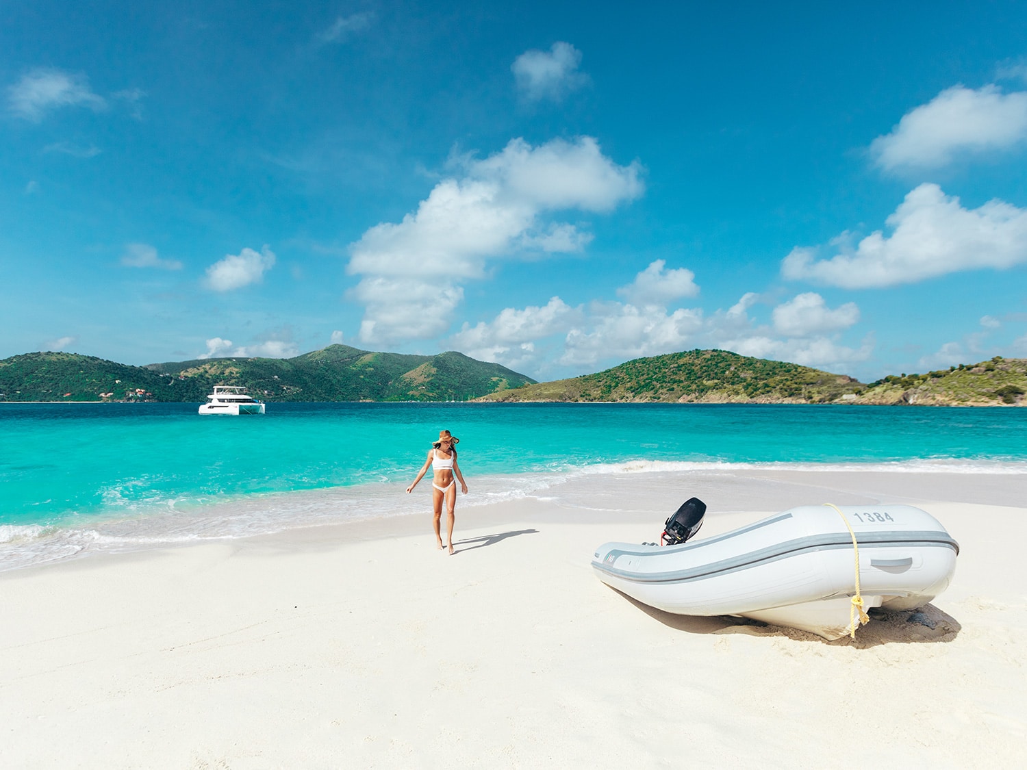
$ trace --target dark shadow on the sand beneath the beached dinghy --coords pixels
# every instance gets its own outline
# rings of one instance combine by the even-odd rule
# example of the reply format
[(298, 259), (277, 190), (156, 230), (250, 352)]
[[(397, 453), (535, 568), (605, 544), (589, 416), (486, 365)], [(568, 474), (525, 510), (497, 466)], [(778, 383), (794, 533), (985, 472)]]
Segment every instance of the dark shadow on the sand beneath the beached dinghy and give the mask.
[[(612, 590), (616, 590), (613, 588)], [(620, 591), (617, 591), (620, 593)], [(809, 631), (768, 625), (759, 620), (718, 615), (699, 617), (694, 615), (674, 615), (657, 610), (620, 593), (642, 612), (665, 626), (686, 633), (745, 633), (750, 637), (787, 637), (796, 642), (816, 642), (834, 647), (854, 647), (864, 650), (887, 644), (919, 644), (924, 642), (952, 642), (962, 630), (959, 621), (942, 612), (934, 605), (924, 605), (915, 610), (892, 612), (872, 609), (870, 622), (855, 631), (855, 639), (842, 637), (833, 642)]]

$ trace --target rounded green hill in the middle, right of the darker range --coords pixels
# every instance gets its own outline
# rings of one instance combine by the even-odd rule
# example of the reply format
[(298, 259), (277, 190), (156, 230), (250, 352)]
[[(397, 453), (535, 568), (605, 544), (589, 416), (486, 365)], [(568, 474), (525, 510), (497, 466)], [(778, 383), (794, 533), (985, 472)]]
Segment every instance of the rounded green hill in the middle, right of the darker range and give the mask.
[(851, 377), (797, 363), (690, 350), (636, 358), (594, 375), (527, 385), (480, 400), (823, 403), (846, 395), (851, 399), (864, 387)]

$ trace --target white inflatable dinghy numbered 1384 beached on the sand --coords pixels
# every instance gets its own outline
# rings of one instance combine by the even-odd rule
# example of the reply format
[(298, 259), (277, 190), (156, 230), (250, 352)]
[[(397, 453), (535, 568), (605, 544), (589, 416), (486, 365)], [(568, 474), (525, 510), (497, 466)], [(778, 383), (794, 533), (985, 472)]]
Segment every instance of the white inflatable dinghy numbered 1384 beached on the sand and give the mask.
[[(688, 534), (697, 529), (692, 522)], [(910, 505), (806, 505), (682, 545), (607, 543), (592, 566), (607, 585), (664, 612), (738, 615), (835, 640), (854, 633), (861, 593), (864, 609), (930, 602), (952, 580), (958, 552), (938, 519)]]

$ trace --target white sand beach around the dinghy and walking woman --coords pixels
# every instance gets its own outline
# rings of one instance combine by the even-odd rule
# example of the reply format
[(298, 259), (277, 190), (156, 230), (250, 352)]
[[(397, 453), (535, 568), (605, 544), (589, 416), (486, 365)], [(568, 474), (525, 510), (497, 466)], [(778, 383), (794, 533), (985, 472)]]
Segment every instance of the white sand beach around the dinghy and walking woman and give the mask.
[[(692, 495), (700, 537), (800, 504), (924, 508), (961, 546), (935, 628), (829, 643), (596, 578), (596, 545), (658, 538)], [(1013, 474), (597, 474), (458, 500), (454, 556), (425, 512), (11, 571), (0, 766), (1018, 766), (1024, 500)]]

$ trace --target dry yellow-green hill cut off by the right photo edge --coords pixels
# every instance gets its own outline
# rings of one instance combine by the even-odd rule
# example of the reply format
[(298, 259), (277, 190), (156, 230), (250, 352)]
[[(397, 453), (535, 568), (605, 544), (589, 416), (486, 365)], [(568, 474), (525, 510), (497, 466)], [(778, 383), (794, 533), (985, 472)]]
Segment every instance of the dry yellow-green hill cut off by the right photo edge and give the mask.
[(922, 375), (888, 375), (872, 382), (857, 403), (930, 407), (1027, 406), (1027, 359), (996, 355)]

